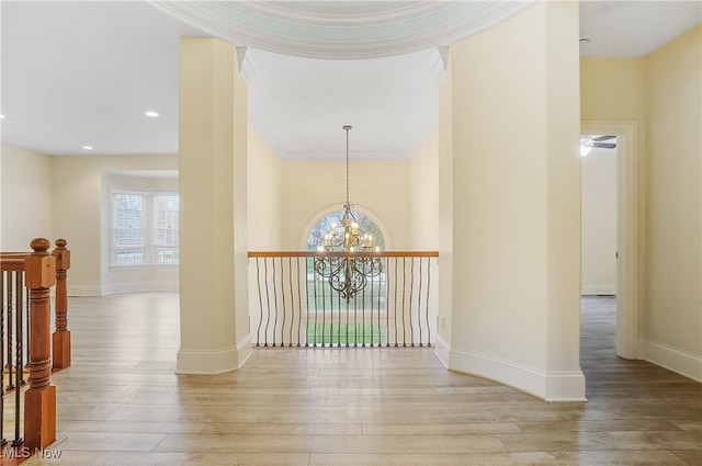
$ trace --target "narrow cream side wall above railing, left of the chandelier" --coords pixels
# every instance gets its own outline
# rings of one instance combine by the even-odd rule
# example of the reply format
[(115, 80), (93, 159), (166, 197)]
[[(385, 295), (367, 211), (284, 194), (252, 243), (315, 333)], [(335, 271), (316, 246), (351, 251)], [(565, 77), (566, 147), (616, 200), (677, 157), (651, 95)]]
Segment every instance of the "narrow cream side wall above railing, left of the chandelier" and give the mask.
[(249, 250), (281, 249), (281, 160), (249, 125), (248, 133)]

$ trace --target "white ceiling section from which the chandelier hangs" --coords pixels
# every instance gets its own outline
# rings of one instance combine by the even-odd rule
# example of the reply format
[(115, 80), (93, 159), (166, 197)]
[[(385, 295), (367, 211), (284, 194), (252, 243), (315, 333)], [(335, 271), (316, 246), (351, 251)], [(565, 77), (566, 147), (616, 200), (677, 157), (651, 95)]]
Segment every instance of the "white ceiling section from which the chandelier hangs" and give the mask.
[(361, 61), (250, 57), (249, 120), (282, 159), (342, 159), (344, 124), (353, 159), (407, 159), (437, 125), (435, 49)]

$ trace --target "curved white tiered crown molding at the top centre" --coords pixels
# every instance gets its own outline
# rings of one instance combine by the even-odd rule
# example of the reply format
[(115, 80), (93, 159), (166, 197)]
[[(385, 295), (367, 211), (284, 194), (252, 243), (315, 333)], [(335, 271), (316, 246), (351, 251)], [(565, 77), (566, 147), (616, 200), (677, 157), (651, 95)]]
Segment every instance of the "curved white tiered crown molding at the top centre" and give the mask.
[(450, 45), (523, 11), (513, 1), (155, 1), (237, 46), (328, 59), (361, 59)]

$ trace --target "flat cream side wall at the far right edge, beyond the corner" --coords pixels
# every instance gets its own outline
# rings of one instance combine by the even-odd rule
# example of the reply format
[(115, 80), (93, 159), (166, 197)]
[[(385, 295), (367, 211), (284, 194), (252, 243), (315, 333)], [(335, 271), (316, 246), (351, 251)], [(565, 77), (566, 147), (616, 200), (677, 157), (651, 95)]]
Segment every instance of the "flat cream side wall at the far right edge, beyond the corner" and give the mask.
[(644, 357), (702, 379), (702, 24), (645, 65)]

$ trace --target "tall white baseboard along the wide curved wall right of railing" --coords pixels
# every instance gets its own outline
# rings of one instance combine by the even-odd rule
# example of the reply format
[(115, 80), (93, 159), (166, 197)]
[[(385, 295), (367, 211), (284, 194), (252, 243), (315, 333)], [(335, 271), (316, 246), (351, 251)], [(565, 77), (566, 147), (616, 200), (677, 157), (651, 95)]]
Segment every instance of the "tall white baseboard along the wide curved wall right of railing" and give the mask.
[(449, 353), (452, 371), (489, 378), (545, 401), (587, 401), (581, 371), (546, 373), (487, 354), (455, 349)]

